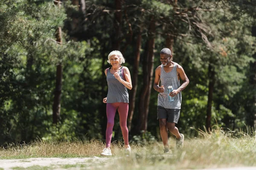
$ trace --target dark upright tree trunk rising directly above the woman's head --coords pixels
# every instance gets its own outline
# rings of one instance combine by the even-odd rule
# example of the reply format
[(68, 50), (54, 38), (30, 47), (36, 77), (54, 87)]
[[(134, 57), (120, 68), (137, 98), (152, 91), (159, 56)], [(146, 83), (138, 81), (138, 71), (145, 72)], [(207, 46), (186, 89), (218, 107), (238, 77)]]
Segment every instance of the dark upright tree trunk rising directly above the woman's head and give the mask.
[[(121, 10), (122, 3), (121, 0), (115, 0), (116, 10)], [(116, 11), (114, 14), (114, 32), (112, 40), (112, 49), (120, 50), (120, 37), (121, 37), (121, 21), (122, 21), (122, 12)]]

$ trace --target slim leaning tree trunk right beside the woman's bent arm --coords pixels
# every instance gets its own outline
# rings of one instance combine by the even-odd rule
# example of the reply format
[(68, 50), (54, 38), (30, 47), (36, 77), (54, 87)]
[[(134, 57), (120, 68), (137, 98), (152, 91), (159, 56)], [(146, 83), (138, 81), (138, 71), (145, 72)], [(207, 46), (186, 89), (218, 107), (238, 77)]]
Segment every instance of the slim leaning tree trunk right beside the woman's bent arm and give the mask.
[(139, 34), (137, 36), (136, 50), (135, 50), (135, 58), (134, 58), (134, 67), (133, 67), (133, 75), (132, 75), (132, 89), (130, 93), (129, 99), (129, 112), (128, 112), (128, 130), (131, 130), (131, 121), (134, 115), (135, 101), (136, 101), (136, 93), (138, 87), (138, 74), (139, 74), (139, 65), (140, 65), (140, 48), (141, 48), (141, 29), (139, 30)]

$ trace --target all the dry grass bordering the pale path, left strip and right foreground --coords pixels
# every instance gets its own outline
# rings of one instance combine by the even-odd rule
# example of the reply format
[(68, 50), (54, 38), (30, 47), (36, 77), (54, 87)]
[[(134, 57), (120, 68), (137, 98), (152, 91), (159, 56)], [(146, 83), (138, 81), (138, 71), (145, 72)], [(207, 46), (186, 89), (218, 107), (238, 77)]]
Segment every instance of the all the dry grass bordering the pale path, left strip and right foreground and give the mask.
[[(175, 149), (175, 139), (169, 144), (173, 154), (163, 154), (162, 143), (147, 146), (131, 144), (132, 153), (125, 156), (120, 144), (113, 144), (113, 156), (105, 161), (87, 161), (85, 164), (62, 165), (65, 169), (74, 167), (86, 169), (198, 169), (215, 167), (256, 166), (256, 136), (242, 133), (234, 137), (232, 132), (222, 129), (212, 133), (199, 131), (200, 137), (189, 139), (185, 136), (183, 150)], [(102, 142), (44, 142), (0, 149), (1, 159), (28, 157), (93, 157), (99, 156), (104, 148)], [(114, 165), (114, 166), (113, 166)]]

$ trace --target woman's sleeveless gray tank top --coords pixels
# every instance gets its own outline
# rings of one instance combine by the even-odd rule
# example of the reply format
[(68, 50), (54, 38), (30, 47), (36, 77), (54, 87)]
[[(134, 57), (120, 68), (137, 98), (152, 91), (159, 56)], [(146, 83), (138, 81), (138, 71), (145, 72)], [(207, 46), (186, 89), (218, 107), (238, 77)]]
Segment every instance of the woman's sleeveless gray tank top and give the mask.
[[(114, 74), (110, 72), (109, 68), (107, 70), (107, 82), (108, 82), (108, 95), (107, 95), (107, 103), (116, 103), (116, 102), (125, 102), (129, 103), (129, 94), (125, 85), (119, 82)], [(121, 79), (125, 80), (125, 76), (123, 74), (123, 66), (117, 72)], [(126, 80), (125, 80), (126, 81)]]

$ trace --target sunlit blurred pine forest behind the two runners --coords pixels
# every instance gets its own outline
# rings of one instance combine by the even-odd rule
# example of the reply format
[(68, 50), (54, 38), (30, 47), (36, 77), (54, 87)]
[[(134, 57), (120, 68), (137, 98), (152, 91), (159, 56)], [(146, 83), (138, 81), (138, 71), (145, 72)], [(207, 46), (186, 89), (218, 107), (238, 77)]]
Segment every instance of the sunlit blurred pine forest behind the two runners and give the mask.
[[(0, 1), (0, 145), (104, 141), (108, 54), (131, 72), (129, 140), (161, 141), (160, 50), (190, 80), (177, 124), (187, 137), (256, 125), (256, 0)], [(182, 80), (181, 80), (182, 82)], [(123, 142), (116, 113), (114, 142)]]

